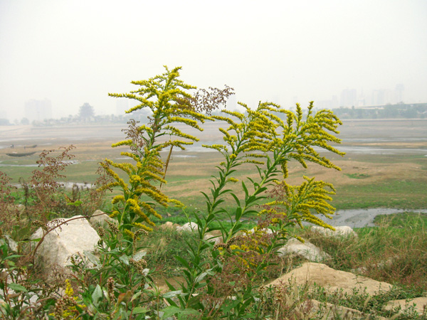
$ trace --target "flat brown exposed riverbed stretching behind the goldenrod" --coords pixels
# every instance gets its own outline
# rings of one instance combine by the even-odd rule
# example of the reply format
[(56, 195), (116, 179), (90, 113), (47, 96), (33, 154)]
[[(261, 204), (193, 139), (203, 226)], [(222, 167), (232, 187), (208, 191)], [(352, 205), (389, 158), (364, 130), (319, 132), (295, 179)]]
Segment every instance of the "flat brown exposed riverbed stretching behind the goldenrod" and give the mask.
[[(0, 127), (0, 171), (18, 179), (34, 169), (27, 167), (38, 159), (43, 149), (57, 149), (59, 146), (73, 144), (75, 160), (78, 164), (70, 166), (69, 181), (95, 181), (97, 162), (106, 157), (116, 161), (125, 161), (120, 151), (125, 148), (111, 148), (113, 142), (125, 139), (122, 129), (125, 124), (90, 125), (79, 127)], [(193, 198), (200, 196), (201, 190), (207, 190), (211, 184), (208, 179), (215, 174), (215, 166), (221, 162), (221, 155), (215, 152), (201, 152), (201, 144), (221, 143), (219, 124), (210, 123), (204, 132), (198, 134), (191, 129), (190, 134), (200, 137), (201, 142), (187, 151), (174, 152), (169, 164), (166, 193), (171, 196)], [(222, 125), (224, 127), (224, 125)], [(419, 186), (427, 183), (427, 119), (416, 120), (345, 120), (341, 133), (342, 145), (338, 149), (346, 151), (344, 157), (331, 157), (342, 171), (325, 169), (310, 164), (303, 169), (299, 164), (290, 164), (288, 183), (297, 184), (302, 175), (316, 176), (317, 180), (328, 181), (336, 188), (343, 186), (367, 186), (389, 181), (410, 181)], [(14, 144), (14, 149), (11, 149)], [(37, 144), (33, 156), (16, 158), (7, 156), (11, 151), (22, 152), (23, 146)], [(28, 149), (25, 149), (28, 151)], [(166, 159), (166, 153), (164, 154)], [(238, 179), (255, 177), (253, 166), (241, 167)], [(427, 199), (426, 199), (427, 200)], [(426, 201), (427, 203), (427, 201)]]

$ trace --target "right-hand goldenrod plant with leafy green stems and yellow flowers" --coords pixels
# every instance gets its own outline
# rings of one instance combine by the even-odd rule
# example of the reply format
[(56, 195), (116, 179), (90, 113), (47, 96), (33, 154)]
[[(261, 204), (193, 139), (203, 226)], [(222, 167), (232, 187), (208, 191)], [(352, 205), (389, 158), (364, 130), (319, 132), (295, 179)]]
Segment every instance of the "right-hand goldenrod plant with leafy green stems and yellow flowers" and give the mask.
[[(307, 167), (307, 161), (311, 161), (339, 170), (315, 147), (343, 155), (331, 146), (331, 142), (339, 143), (332, 134), (338, 133), (341, 122), (329, 110), (314, 112), (312, 102), (305, 115), (300, 105), (295, 113), (273, 103), (260, 103), (256, 110), (242, 106), (246, 114), (223, 110), (228, 117), (213, 116), (227, 122), (229, 127), (220, 129), (223, 145), (206, 147), (219, 151), (224, 161), (218, 166), (218, 176), (211, 180), (210, 192), (203, 193), (206, 211), (195, 217), (199, 240), (189, 243), (191, 261), (176, 257), (184, 267), (186, 279), (179, 292), (180, 304), (172, 299), (169, 301), (181, 310), (202, 310), (204, 316), (214, 317), (212, 319), (217, 316), (240, 319), (243, 314), (248, 315), (248, 306), (255, 304), (255, 284), (260, 283), (278, 243), (288, 237), (289, 225), (302, 225), (307, 221), (332, 228), (317, 215), (330, 218), (334, 213), (328, 203), (332, 200), (330, 195), (334, 194), (333, 186), (307, 177), (301, 186), (288, 185), (285, 182), (288, 162), (295, 159)], [(258, 178), (238, 181), (239, 167), (248, 162), (255, 164)], [(236, 193), (239, 184), (244, 194), (242, 198)], [(267, 198), (265, 191), (268, 189), (275, 193), (275, 200), (259, 210), (257, 206)], [(227, 196), (235, 201), (232, 209), (223, 206)], [(230, 229), (218, 220), (223, 213), (232, 223)], [(253, 214), (262, 219), (250, 232), (243, 221)], [(222, 241), (216, 245), (205, 240), (206, 233), (218, 229), (214, 228), (214, 221), (221, 226), (222, 233)], [(268, 233), (269, 228), (272, 234)], [(195, 294), (199, 298), (195, 299)]]

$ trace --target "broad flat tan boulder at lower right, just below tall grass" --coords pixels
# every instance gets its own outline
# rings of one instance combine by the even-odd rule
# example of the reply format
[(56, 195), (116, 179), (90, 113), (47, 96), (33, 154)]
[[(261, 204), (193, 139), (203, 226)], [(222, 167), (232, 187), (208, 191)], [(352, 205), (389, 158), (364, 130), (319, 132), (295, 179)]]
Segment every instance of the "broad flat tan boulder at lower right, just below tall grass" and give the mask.
[(315, 262), (305, 262), (301, 267), (275, 279), (268, 285), (276, 286), (290, 281), (295, 282), (298, 286), (308, 284), (312, 287), (312, 284), (317, 284), (328, 292), (342, 290), (344, 293), (352, 294), (353, 290), (357, 289), (359, 292), (366, 292), (371, 296), (379, 292), (388, 292), (393, 287), (386, 282), (379, 282), (350, 272), (334, 270), (327, 265)]

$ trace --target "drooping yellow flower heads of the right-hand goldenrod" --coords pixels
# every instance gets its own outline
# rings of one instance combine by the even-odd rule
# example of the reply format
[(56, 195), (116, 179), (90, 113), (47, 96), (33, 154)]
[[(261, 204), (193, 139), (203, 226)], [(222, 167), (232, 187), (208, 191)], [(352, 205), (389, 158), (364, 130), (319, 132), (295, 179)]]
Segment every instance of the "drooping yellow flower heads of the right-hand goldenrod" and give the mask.
[[(330, 145), (340, 143), (340, 139), (330, 132), (339, 133), (337, 127), (342, 124), (330, 110), (314, 112), (313, 102), (310, 102), (307, 112), (303, 112), (300, 105), (297, 105), (295, 113), (270, 102), (260, 103), (256, 110), (251, 110), (243, 103), (240, 105), (246, 109), (246, 114), (223, 110), (234, 119), (212, 116), (229, 124), (228, 128), (219, 129), (223, 134), (224, 145), (206, 146), (220, 151), (226, 158), (226, 161), (221, 163), (223, 169), (221, 169), (220, 178), (226, 176), (226, 170), (231, 170), (243, 163), (252, 163), (258, 166), (263, 183), (270, 183), (277, 181), (273, 178), (277, 176), (277, 168), (282, 171), (283, 178), (288, 177), (288, 161), (291, 159), (300, 162), (305, 168), (307, 161), (310, 161), (340, 170), (315, 150), (315, 147), (320, 147), (335, 154), (344, 155)], [(264, 164), (263, 161), (258, 161), (261, 158), (266, 160), (265, 171), (260, 169)], [(217, 181), (219, 183), (219, 179)], [(225, 182), (228, 181), (235, 182), (235, 178), (227, 176)], [(259, 183), (253, 183), (253, 185), (255, 188), (260, 188)], [(285, 182), (282, 186), (287, 200), (283, 203), (270, 203), (270, 206), (284, 207), (278, 210), (277, 214), (291, 215), (292, 219), (299, 224), (307, 221), (325, 228), (332, 228), (315, 215), (320, 214), (330, 218), (334, 213), (334, 208), (327, 202), (332, 200), (330, 195), (334, 194), (331, 184), (306, 178), (302, 186), (288, 186)], [(248, 191), (246, 191), (246, 198), (249, 198)], [(273, 223), (279, 222), (279, 218), (273, 220)]]

